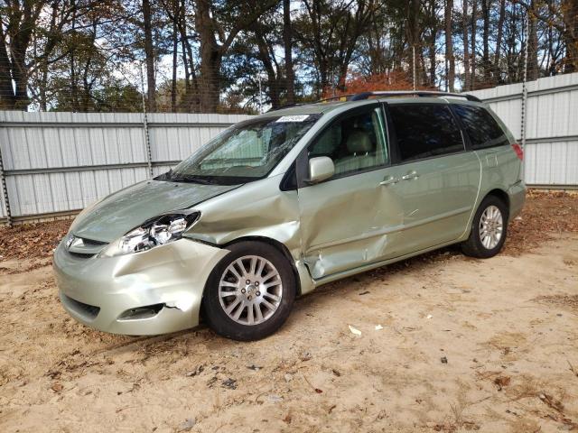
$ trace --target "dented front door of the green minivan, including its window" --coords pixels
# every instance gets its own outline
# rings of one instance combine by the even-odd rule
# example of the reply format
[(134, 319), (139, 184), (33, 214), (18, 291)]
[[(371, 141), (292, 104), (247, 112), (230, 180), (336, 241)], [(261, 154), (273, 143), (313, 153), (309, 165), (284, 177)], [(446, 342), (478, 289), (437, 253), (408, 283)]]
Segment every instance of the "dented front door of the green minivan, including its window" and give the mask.
[(298, 189), (303, 261), (314, 279), (396, 256), (403, 209), (386, 137), (381, 106), (363, 106), (303, 152), (300, 160), (329, 156), (335, 164), (331, 179)]

